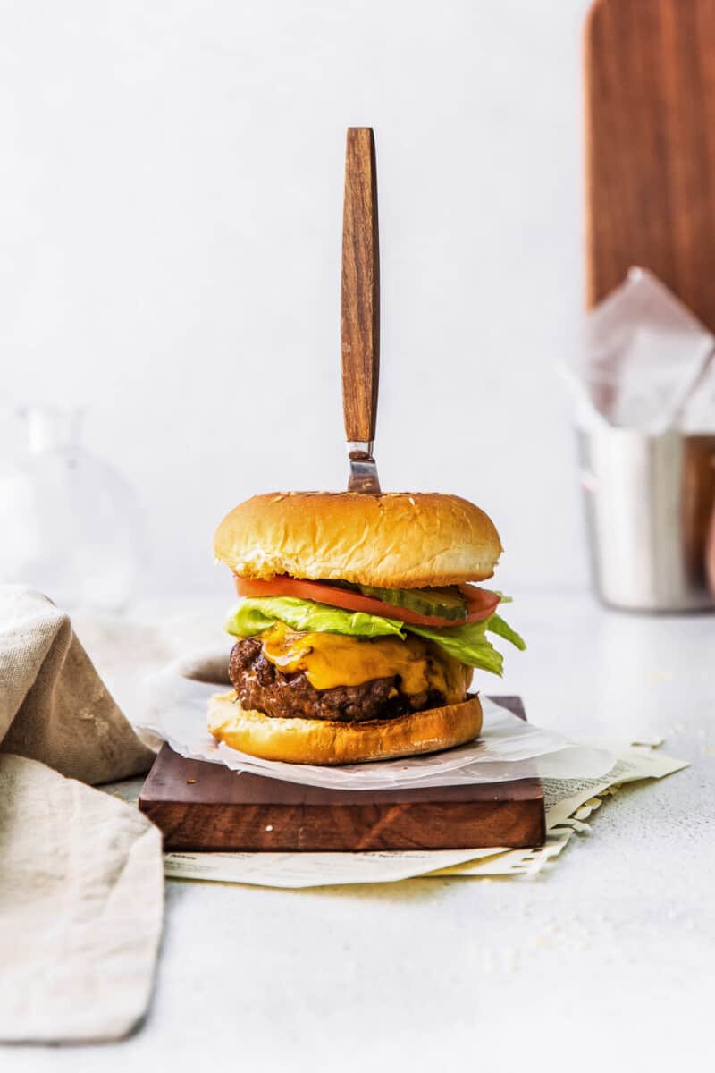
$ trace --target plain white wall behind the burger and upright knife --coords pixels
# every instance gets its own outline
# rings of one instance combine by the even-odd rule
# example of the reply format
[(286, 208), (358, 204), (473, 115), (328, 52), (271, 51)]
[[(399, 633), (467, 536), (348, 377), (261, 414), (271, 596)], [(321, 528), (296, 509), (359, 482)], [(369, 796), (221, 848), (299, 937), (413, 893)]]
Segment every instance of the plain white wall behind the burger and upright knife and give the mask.
[(146, 585), (218, 592), (255, 491), (340, 488), (344, 129), (377, 138), (383, 487), (493, 516), (504, 588), (585, 584), (557, 363), (582, 307), (585, 0), (0, 3), (2, 436), (89, 408)]

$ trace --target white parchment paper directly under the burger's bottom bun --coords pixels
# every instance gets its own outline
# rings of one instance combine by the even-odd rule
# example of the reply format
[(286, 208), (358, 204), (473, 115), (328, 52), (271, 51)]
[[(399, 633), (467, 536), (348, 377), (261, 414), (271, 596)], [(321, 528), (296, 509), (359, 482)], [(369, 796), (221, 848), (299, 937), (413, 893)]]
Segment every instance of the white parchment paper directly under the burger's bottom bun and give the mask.
[(193, 681), (173, 664), (147, 681), (141, 730), (151, 731), (191, 760), (225, 764), (234, 771), (333, 790), (387, 790), (458, 783), (507, 782), (530, 777), (598, 778), (614, 763), (607, 749), (578, 744), (525, 723), (481, 697), (481, 735), (467, 745), (427, 756), (340, 767), (259, 760), (219, 744), (206, 729), (207, 704), (220, 687)]

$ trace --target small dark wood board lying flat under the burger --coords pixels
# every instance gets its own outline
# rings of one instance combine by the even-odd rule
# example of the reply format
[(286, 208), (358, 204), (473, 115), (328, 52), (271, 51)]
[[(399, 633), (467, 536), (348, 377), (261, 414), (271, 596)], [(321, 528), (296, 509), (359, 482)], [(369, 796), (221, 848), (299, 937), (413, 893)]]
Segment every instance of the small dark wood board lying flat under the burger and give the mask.
[[(518, 696), (492, 697), (525, 718)], [(424, 790), (323, 790), (220, 764), (184, 760), (165, 745), (139, 808), (167, 850), (367, 851), (540, 846), (538, 779)]]

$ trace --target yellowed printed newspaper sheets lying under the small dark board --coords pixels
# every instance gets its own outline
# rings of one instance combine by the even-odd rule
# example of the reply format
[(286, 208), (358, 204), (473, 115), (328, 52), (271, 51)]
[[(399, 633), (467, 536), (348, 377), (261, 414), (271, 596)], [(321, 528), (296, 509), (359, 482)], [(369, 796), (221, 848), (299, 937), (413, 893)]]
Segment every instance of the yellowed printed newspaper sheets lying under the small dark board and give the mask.
[[(593, 743), (594, 745), (596, 743)], [(534, 876), (554, 861), (575, 832), (589, 831), (586, 820), (605, 797), (625, 782), (660, 779), (687, 767), (646, 745), (609, 741), (617, 760), (597, 779), (545, 780), (548, 836), (545, 846), (526, 850), (391, 850), (377, 853), (166, 853), (170, 879), (251, 883), (258, 886), (309, 887), (348, 883), (393, 883), (418, 876)]]

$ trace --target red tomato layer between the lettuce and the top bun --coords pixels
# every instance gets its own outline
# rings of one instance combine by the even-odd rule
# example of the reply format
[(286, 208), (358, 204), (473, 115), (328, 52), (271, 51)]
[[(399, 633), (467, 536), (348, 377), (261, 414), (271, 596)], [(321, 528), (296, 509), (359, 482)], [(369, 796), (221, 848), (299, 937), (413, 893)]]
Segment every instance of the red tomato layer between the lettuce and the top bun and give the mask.
[(306, 582), (296, 577), (271, 577), (269, 582), (252, 580), (247, 577), (235, 577), (236, 591), (239, 597), (295, 597), (297, 600), (313, 600), (330, 607), (342, 607), (343, 611), (362, 611), (367, 615), (382, 615), (384, 618), (397, 618), (401, 622), (412, 622), (413, 626), (463, 626), (464, 622), (481, 622), (493, 615), (500, 598), (488, 589), (479, 589), (475, 585), (460, 585), (460, 591), (466, 600), (466, 618), (453, 621), (438, 618), (435, 615), (420, 615), (409, 607), (399, 607), (363, 597), (361, 592), (341, 589), (328, 582)]

